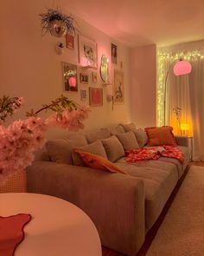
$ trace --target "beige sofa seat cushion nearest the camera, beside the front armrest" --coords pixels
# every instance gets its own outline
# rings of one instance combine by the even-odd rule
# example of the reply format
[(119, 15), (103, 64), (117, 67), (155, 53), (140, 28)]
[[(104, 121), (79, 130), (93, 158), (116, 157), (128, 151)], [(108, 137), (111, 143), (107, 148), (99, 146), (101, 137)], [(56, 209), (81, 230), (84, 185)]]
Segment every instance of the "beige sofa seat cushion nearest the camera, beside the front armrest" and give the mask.
[(123, 161), (124, 159), (120, 159), (116, 162), (118, 167), (144, 182), (145, 228), (148, 232), (162, 212), (178, 181), (177, 168), (174, 164), (163, 161), (151, 161), (151, 164), (155, 162), (154, 167), (145, 166), (149, 161), (143, 162), (141, 166)]

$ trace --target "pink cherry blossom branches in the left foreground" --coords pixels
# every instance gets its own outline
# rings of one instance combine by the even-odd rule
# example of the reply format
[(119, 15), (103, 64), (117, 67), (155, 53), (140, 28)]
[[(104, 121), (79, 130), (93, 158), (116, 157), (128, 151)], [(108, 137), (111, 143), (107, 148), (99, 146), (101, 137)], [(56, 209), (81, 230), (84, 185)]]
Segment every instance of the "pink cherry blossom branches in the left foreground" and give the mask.
[[(13, 115), (23, 102), (22, 98), (17, 97), (4, 96), (3, 99), (0, 99), (0, 103), (9, 102), (10, 111), (4, 110), (3, 104), (0, 104), (0, 121), (5, 121), (7, 115)], [(37, 114), (47, 109), (53, 110), (54, 114), (42, 121)], [(0, 123), (0, 184), (6, 182), (10, 175), (29, 167), (34, 161), (35, 150), (41, 148), (46, 141), (45, 133), (49, 126), (78, 131), (84, 128), (82, 121), (88, 117), (89, 111), (89, 108), (81, 108), (62, 95), (38, 111), (32, 110), (25, 120), (13, 121), (7, 128)]]

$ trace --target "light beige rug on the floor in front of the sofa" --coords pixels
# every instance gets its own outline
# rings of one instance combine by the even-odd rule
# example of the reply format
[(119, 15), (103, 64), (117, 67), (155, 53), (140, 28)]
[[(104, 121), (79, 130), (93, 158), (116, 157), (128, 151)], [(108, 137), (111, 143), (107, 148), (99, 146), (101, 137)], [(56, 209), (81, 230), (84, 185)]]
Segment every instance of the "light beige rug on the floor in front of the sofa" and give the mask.
[(191, 166), (146, 256), (204, 255), (204, 167)]

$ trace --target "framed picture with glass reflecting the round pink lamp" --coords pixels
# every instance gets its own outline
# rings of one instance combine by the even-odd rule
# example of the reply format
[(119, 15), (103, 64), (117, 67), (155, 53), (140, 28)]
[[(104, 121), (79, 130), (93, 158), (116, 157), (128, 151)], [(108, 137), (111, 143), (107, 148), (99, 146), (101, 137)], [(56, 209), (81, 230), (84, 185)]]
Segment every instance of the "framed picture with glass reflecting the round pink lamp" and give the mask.
[(78, 91), (77, 66), (61, 62), (63, 88), (66, 91)]

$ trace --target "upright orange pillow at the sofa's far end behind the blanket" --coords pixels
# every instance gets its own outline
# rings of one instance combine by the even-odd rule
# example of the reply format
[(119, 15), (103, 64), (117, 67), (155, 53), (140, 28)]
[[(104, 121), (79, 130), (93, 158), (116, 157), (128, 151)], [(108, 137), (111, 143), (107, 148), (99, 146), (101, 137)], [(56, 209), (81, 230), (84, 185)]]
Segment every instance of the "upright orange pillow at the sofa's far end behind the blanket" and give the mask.
[(175, 136), (172, 133), (172, 127), (152, 127), (145, 128), (144, 130), (148, 136), (148, 146), (177, 146)]

